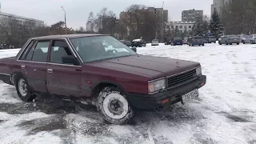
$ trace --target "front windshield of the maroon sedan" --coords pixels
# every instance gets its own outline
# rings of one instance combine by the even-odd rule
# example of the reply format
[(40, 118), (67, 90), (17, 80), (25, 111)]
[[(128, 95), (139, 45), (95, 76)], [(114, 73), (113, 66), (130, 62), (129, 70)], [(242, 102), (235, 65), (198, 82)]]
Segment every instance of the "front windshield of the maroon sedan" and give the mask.
[(94, 62), (136, 54), (128, 46), (110, 36), (70, 38), (70, 41), (84, 62)]

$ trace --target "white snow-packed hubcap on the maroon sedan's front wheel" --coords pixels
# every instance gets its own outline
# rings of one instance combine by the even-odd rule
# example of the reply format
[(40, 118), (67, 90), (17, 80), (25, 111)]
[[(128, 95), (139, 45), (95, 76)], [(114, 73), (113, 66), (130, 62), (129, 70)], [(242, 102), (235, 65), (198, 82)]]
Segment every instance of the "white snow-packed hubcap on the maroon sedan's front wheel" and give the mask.
[(103, 101), (103, 109), (107, 116), (114, 119), (124, 118), (129, 104), (121, 94), (109, 94)]

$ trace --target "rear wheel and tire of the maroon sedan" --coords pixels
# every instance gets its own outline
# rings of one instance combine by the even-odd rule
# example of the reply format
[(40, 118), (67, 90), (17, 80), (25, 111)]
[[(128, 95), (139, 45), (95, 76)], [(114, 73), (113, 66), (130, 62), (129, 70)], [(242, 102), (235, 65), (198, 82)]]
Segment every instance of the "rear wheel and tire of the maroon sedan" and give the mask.
[(21, 98), (23, 102), (32, 102), (34, 98), (36, 98), (36, 95), (31, 93), (31, 89), (26, 78), (21, 75), (17, 75), (14, 81), (18, 97)]

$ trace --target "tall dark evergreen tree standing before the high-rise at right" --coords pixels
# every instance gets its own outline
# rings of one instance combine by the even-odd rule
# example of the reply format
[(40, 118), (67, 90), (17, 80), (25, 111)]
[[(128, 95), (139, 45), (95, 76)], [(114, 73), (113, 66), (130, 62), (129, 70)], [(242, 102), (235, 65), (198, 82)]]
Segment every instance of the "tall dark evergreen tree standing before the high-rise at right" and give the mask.
[(219, 18), (219, 14), (217, 10), (214, 10), (214, 13), (211, 15), (210, 19), (210, 32), (218, 38), (223, 34), (223, 27), (221, 23), (221, 19)]

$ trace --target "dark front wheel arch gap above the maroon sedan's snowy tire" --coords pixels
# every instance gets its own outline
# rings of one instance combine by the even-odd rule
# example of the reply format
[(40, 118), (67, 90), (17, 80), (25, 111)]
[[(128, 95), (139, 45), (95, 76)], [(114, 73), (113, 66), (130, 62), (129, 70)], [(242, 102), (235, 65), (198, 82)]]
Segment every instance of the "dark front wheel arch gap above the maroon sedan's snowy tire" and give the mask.
[(92, 94), (91, 96), (94, 97), (96, 96), (104, 87), (106, 86), (114, 86), (114, 87), (118, 87), (121, 90), (122, 94), (126, 94), (126, 91), (124, 90), (124, 88), (118, 84), (117, 82), (112, 82), (112, 81), (102, 81), (102, 82), (98, 82), (94, 85), (94, 88), (92, 89)]

